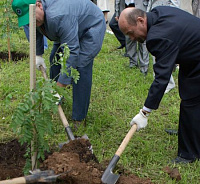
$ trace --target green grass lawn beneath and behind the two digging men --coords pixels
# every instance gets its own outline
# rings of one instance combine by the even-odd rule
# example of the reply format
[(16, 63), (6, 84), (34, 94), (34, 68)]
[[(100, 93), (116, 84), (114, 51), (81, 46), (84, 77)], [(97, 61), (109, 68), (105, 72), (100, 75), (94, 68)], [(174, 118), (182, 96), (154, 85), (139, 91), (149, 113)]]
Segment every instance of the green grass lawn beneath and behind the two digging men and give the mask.
[[(29, 53), (28, 43), (21, 30), (12, 37), (14, 50)], [(145, 78), (139, 69), (130, 69), (128, 58), (123, 57), (124, 50), (117, 50), (118, 42), (114, 35), (106, 33), (101, 52), (95, 58), (93, 67), (93, 86), (91, 103), (87, 116), (87, 127), (81, 128), (76, 135), (87, 134), (99, 161), (110, 160), (130, 129), (129, 122), (143, 107), (148, 89), (153, 81), (152, 60)], [(48, 58), (52, 48), (45, 51)], [(6, 50), (6, 41), (0, 45)], [(16, 136), (9, 128), (11, 117), (23, 95), (29, 91), (29, 59), (17, 63), (0, 61), (0, 142), (6, 142)], [(177, 84), (176, 71), (173, 73)], [(37, 71), (37, 77), (41, 73)], [(12, 103), (6, 105), (5, 98), (12, 94)], [(66, 90), (63, 110), (71, 121), (72, 94)], [(177, 165), (182, 180), (176, 182), (162, 171), (168, 162), (176, 157), (177, 136), (165, 133), (165, 128), (178, 127), (179, 115), (178, 88), (164, 95), (160, 107), (149, 117), (148, 126), (133, 135), (119, 164), (139, 177), (151, 178), (157, 184), (197, 184), (200, 182), (200, 165)], [(49, 137), (51, 144), (66, 140), (66, 133), (58, 116), (54, 117), (55, 136)], [(170, 165), (175, 167), (175, 165)]]

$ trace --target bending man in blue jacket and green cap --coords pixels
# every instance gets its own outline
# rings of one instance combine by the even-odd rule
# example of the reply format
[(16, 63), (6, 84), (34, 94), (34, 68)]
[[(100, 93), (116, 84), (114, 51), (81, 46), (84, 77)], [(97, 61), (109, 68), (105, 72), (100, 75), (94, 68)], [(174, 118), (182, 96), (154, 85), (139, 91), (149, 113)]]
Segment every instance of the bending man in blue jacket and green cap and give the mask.
[[(36, 3), (37, 48), (36, 66), (45, 67), (43, 34), (54, 41), (50, 56), (50, 78), (65, 87), (73, 85), (74, 123), (80, 124), (85, 119), (91, 94), (92, 67), (95, 56), (99, 53), (106, 30), (102, 11), (90, 0), (13, 0), (12, 8), (18, 15), (19, 26), (29, 23), (29, 4)], [(61, 44), (67, 44), (70, 56), (66, 68), (72, 66), (80, 73), (77, 84), (66, 74), (60, 74), (60, 65), (54, 64), (57, 51), (62, 51)]]

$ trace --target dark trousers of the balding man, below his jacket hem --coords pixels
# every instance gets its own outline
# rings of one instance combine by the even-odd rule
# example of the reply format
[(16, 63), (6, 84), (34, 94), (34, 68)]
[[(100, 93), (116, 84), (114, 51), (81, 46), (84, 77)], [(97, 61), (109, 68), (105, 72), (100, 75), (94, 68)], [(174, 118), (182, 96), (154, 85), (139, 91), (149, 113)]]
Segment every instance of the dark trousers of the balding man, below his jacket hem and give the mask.
[(178, 156), (200, 159), (200, 96), (180, 104)]

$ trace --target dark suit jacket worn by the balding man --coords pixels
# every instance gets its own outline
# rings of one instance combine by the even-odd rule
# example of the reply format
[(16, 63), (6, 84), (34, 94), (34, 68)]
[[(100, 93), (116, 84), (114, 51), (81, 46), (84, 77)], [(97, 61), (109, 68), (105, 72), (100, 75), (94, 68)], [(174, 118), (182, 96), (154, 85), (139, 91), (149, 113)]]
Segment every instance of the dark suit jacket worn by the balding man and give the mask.
[(158, 108), (176, 63), (181, 99), (200, 96), (200, 19), (178, 8), (158, 6), (147, 13), (147, 29), (147, 49), (156, 64), (144, 105)]

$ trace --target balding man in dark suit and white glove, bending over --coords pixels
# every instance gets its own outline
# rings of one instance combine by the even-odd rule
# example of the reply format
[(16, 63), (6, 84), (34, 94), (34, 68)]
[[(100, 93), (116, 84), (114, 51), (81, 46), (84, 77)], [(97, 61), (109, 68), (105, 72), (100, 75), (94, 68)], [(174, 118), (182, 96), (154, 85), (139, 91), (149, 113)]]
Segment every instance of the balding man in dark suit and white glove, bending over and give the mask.
[(119, 27), (132, 40), (146, 40), (148, 51), (156, 57), (155, 79), (144, 107), (130, 124), (137, 124), (138, 130), (146, 127), (149, 113), (159, 106), (174, 65), (179, 64), (178, 156), (173, 162), (200, 159), (200, 19), (167, 6), (158, 6), (149, 13), (127, 8), (120, 15)]

